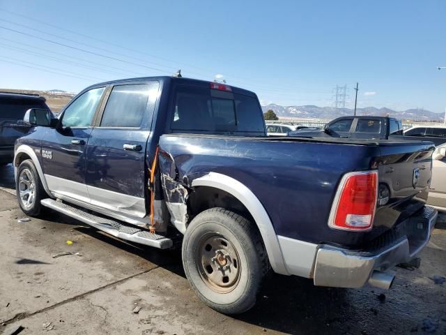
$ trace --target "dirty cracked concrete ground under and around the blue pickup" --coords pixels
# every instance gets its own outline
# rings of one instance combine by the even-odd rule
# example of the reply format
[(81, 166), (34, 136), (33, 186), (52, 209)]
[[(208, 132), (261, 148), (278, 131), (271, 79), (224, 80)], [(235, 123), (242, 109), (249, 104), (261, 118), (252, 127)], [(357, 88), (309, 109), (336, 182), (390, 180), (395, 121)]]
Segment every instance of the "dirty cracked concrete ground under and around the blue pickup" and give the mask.
[[(178, 252), (128, 244), (54, 211), (17, 222), (12, 176), (0, 168), (0, 334), (16, 325), (20, 334), (446, 334), (446, 283), (431, 279), (446, 277), (445, 216), (420, 269), (397, 269), (389, 291), (275, 275), (251, 311), (229, 317), (190, 290)], [(63, 252), (82, 256), (52, 258)]]

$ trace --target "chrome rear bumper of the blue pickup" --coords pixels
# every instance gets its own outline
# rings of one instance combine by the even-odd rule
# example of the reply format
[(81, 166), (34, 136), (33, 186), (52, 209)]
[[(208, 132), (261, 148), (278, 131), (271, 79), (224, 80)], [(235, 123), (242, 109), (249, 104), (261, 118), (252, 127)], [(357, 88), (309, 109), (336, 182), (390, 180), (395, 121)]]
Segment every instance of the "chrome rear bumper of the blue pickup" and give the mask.
[(436, 218), (436, 209), (425, 206), (368, 251), (319, 246), (314, 265), (314, 285), (360, 288), (374, 271), (386, 271), (410, 262), (429, 241)]

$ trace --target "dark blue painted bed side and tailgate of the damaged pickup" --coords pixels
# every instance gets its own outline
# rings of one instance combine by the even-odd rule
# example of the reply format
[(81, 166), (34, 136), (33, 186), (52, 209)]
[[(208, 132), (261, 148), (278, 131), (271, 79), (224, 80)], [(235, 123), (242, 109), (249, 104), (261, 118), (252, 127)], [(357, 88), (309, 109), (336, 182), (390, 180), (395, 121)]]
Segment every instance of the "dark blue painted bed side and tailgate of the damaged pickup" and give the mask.
[[(226, 174), (259, 198), (277, 234), (348, 248), (369, 243), (422, 208), (433, 149), (431, 142), (331, 137), (160, 137), (160, 153), (170, 157), (169, 169), (174, 166), (176, 182), (189, 187), (203, 174)], [(413, 170), (417, 167), (422, 169), (421, 176), (413, 188)], [(379, 171), (379, 183), (390, 189), (390, 199), (378, 206), (373, 231), (329, 228), (328, 216), (341, 177), (347, 172), (374, 169)]]

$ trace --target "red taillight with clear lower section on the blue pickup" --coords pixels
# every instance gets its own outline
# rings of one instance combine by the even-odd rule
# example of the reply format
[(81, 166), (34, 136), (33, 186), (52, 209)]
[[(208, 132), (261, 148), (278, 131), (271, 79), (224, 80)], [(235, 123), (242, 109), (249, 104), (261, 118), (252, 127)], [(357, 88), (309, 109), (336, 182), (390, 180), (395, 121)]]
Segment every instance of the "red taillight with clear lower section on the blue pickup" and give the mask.
[(328, 225), (341, 230), (369, 230), (374, 223), (378, 172), (351, 172), (339, 184)]

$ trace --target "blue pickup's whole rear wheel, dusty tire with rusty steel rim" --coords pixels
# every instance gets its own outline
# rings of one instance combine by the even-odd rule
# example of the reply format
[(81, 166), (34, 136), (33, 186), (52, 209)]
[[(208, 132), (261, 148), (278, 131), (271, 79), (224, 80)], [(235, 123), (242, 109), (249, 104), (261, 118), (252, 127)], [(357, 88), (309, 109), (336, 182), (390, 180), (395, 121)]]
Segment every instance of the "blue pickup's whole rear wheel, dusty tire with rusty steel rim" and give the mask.
[(224, 314), (252, 308), (270, 269), (257, 227), (224, 208), (208, 209), (192, 220), (182, 256), (186, 277), (197, 295)]

